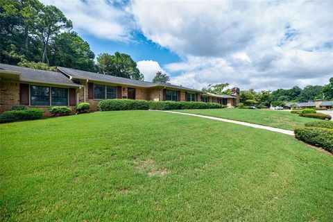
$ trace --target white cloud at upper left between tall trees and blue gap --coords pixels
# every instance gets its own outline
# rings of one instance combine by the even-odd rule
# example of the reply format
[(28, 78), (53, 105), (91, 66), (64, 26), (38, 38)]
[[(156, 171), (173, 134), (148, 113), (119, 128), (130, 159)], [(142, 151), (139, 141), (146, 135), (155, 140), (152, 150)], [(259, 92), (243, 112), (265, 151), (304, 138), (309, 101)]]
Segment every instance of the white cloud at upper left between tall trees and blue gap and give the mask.
[(131, 39), (133, 19), (126, 10), (112, 6), (108, 1), (41, 0), (58, 7), (73, 22), (74, 30), (107, 40), (126, 42)]

